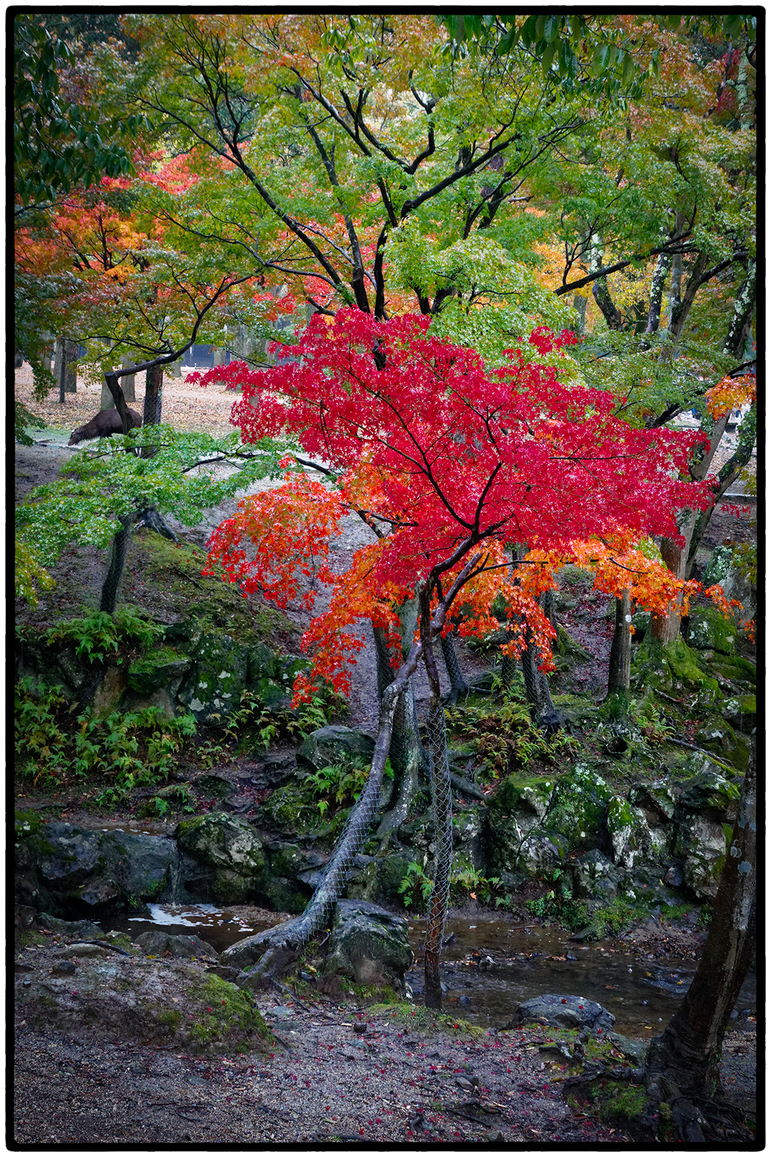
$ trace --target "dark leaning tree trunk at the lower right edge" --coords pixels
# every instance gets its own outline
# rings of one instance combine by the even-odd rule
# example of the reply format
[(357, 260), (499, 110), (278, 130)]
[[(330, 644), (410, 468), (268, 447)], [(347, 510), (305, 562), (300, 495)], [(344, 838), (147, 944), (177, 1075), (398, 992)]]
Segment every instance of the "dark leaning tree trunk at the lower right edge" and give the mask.
[(663, 1033), (651, 1042), (645, 1118), (652, 1133), (655, 1133), (654, 1114), (666, 1103), (682, 1138), (704, 1141), (703, 1120), (692, 1101), (710, 1100), (719, 1090), (722, 1038), (755, 953), (756, 809), (752, 737), (710, 934), (683, 1003)]

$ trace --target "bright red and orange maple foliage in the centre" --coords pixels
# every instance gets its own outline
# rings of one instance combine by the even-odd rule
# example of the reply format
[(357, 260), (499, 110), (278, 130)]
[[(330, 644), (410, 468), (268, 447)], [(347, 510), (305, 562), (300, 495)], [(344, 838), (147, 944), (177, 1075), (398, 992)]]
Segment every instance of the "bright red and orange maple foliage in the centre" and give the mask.
[[(706, 502), (702, 484), (681, 480), (699, 435), (633, 429), (614, 417), (609, 393), (560, 381), (563, 351), (577, 340), (568, 331), (536, 330), (529, 348), (486, 368), (428, 326), (416, 315), (386, 323), (354, 309), (331, 323), (316, 315), (276, 367), (235, 362), (200, 376), (241, 388), (232, 420), (244, 441), (293, 435), (331, 471), (332, 485), (323, 485), (293, 462), (282, 486), (244, 499), (214, 532), (208, 565), (279, 605), (301, 596), (313, 606), (318, 582), (329, 584), (329, 609), (304, 643), (311, 677), (340, 691), (362, 646), (351, 628), (368, 618), (396, 642), (397, 607), (426, 582), (440, 596), (470, 552), (482, 561), (463, 589), (461, 633), (495, 627), (490, 607), (502, 596), (546, 659), (553, 632), (535, 597), (575, 544), (594, 544), (585, 554), (603, 558), (617, 546), (618, 589), (629, 588), (633, 544), (676, 538), (675, 511)], [(376, 540), (336, 575), (330, 538), (352, 513)], [(526, 544), (531, 561), (516, 581), (506, 554), (514, 544)], [(511, 647), (522, 646), (520, 634)], [(309, 686), (301, 678), (295, 692)]]

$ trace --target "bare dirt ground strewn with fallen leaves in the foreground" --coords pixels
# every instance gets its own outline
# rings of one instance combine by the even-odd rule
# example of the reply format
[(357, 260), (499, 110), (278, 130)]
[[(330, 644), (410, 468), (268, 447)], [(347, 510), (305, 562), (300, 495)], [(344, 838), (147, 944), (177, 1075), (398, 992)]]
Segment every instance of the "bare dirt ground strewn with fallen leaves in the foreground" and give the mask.
[[(60, 937), (15, 952), (16, 983), (58, 980)], [(88, 964), (88, 961), (83, 961)], [(159, 964), (160, 966), (160, 964)], [(204, 964), (184, 965), (203, 970)], [(172, 970), (171, 970), (172, 971)], [(192, 1055), (172, 1046), (42, 1031), (17, 1018), (15, 1119), (9, 1141), (38, 1147), (304, 1145), (493, 1149), (626, 1145), (619, 1122), (574, 1111), (571, 1069), (542, 1025), (469, 1031), (424, 1009), (369, 1015), (351, 1001), (288, 990), (257, 997), (274, 1039), (257, 1052)], [(434, 1026), (436, 1025), (436, 1026)], [(754, 1111), (754, 1025), (737, 1022), (724, 1049), (726, 1105)], [(618, 1048), (607, 1061), (633, 1063)], [(573, 1069), (575, 1071), (575, 1069)], [(722, 1141), (750, 1140), (724, 1114)], [(718, 1137), (715, 1137), (718, 1140)]]

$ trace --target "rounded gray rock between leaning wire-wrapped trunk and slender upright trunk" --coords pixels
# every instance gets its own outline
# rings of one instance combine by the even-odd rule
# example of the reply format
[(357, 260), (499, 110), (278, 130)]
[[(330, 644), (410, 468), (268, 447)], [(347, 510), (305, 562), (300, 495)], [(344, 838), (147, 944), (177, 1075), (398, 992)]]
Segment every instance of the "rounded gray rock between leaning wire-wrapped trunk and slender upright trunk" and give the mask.
[(390, 985), (404, 992), (404, 973), (414, 961), (406, 920), (366, 900), (338, 900), (325, 974), (359, 985)]

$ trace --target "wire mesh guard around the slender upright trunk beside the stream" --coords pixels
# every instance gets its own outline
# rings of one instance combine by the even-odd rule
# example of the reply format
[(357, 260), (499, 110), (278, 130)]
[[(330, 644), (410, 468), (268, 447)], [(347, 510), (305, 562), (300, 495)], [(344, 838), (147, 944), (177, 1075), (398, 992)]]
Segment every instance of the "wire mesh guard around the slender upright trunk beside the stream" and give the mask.
[(428, 708), (428, 759), (431, 765), (431, 805), (434, 820), (434, 886), (428, 900), (426, 922), (425, 1000), (426, 1008), (442, 1007), (439, 957), (449, 906), (453, 867), (453, 788), (449, 778), (447, 730), (441, 702)]

